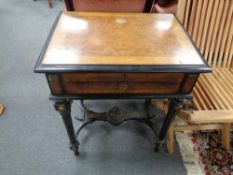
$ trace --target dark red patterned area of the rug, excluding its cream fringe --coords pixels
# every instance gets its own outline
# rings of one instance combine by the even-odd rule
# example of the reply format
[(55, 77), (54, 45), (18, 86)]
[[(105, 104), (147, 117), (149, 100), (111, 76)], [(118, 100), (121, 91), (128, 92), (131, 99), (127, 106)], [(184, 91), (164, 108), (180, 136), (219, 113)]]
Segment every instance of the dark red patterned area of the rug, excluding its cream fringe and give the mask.
[(232, 152), (222, 148), (218, 131), (193, 132), (189, 133), (189, 137), (194, 145), (194, 152), (199, 154), (199, 163), (202, 164), (205, 175), (233, 174)]

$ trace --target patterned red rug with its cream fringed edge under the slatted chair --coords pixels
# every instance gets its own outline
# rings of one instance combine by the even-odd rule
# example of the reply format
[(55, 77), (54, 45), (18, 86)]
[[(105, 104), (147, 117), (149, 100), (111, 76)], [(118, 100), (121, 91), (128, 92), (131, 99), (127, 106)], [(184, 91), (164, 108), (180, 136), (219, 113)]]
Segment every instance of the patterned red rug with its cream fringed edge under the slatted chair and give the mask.
[(222, 148), (218, 131), (176, 132), (176, 139), (188, 175), (233, 175), (232, 152)]

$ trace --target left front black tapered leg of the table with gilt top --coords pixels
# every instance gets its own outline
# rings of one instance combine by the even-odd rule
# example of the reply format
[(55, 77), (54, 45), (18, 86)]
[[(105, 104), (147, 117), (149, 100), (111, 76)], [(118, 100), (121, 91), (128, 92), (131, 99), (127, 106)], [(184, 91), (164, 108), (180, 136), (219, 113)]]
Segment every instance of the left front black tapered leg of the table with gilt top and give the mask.
[(62, 116), (63, 123), (65, 125), (70, 140), (70, 149), (74, 151), (75, 155), (78, 155), (79, 142), (78, 140), (76, 140), (73, 122), (71, 118), (71, 101), (55, 101), (54, 107)]

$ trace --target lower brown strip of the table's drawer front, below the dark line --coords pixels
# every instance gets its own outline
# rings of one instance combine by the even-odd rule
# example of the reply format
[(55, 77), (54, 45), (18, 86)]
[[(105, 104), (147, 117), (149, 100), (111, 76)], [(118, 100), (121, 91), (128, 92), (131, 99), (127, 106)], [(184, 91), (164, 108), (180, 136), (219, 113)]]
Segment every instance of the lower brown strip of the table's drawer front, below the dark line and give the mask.
[(168, 94), (179, 90), (178, 82), (101, 82), (101, 83), (68, 83), (65, 92), (68, 94)]

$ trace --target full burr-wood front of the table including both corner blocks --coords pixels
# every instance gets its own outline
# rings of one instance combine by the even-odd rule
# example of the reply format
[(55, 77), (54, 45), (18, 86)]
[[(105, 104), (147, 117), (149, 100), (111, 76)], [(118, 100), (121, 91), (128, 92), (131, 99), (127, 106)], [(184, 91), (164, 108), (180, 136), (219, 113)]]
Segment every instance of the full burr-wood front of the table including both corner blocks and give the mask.
[(54, 95), (188, 94), (198, 74), (62, 73), (47, 75)]

